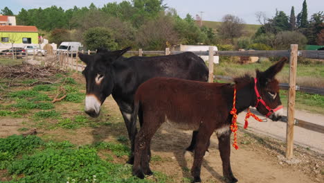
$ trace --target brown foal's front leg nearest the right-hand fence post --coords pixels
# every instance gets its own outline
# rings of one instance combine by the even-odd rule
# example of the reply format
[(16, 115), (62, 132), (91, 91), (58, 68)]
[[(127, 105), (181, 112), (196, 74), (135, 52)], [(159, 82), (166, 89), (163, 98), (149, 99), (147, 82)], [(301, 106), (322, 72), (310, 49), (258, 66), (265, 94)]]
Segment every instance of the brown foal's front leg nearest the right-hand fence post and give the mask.
[(218, 138), (218, 148), (219, 153), (222, 158), (223, 163), (223, 175), (228, 182), (237, 182), (237, 179), (234, 177), (232, 169), (231, 169), (231, 162), (230, 162), (230, 155), (231, 155), (231, 131), (228, 131), (224, 134), (217, 135)]

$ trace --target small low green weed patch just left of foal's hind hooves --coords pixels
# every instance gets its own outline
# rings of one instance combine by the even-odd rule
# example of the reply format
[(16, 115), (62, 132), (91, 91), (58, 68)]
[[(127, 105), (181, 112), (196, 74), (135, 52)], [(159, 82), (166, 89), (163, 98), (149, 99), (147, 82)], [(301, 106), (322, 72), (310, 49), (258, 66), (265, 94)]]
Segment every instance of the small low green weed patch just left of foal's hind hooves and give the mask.
[(121, 143), (111, 143), (111, 142), (98, 142), (95, 145), (98, 150), (109, 149), (117, 157), (122, 157), (129, 155), (129, 147)]

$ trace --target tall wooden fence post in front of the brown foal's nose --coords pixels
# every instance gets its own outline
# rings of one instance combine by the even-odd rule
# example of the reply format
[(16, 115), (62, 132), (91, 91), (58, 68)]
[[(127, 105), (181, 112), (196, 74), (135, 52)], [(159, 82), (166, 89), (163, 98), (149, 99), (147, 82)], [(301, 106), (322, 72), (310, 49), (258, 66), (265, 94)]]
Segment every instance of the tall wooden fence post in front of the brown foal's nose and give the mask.
[(297, 73), (298, 44), (290, 45), (289, 58), (289, 93), (287, 111), (287, 132), (286, 132), (286, 158), (293, 157), (294, 150), (294, 119), (295, 119), (295, 98), (296, 98), (296, 73)]

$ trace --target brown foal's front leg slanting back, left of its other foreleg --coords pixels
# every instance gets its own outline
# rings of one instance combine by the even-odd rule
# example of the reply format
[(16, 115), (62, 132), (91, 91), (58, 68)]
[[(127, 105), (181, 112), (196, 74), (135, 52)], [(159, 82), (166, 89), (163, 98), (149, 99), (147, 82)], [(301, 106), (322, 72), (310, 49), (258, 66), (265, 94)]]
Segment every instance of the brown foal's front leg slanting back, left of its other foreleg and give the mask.
[(201, 182), (201, 163), (208, 148), (209, 139), (212, 134), (213, 130), (211, 128), (207, 128), (206, 126), (201, 126), (199, 128), (196, 137), (197, 143), (195, 146), (195, 157), (191, 168), (191, 175), (194, 177), (194, 182)]

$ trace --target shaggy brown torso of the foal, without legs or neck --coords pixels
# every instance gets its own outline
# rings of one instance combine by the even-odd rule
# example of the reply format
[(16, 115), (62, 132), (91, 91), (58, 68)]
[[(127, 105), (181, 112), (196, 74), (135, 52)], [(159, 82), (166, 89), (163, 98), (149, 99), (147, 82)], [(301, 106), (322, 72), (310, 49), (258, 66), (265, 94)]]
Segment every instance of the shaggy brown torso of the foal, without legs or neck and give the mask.
[(232, 96), (230, 89), (228, 84), (152, 78), (138, 87), (135, 105), (143, 107), (144, 115), (159, 116), (161, 123), (173, 123), (183, 130), (197, 130), (204, 121), (214, 119), (214, 125), (217, 125), (217, 121), (226, 119), (224, 114), (231, 105), (226, 100)]

